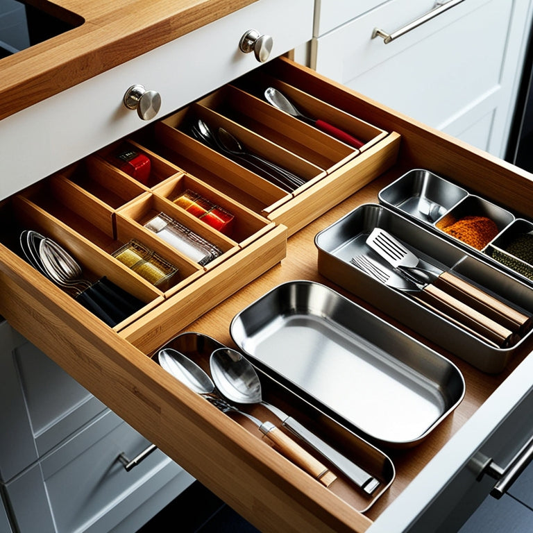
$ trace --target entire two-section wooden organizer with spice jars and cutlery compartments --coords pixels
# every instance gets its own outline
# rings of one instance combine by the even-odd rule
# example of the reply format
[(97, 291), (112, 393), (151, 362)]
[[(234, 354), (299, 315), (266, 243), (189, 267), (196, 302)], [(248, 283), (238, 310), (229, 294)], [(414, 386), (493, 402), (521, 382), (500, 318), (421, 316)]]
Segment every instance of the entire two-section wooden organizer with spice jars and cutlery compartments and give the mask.
[[(8, 198), (0, 210), (3, 227), (9, 228), (1, 242), (20, 255), (20, 232), (35, 230), (66, 248), (90, 280), (106, 276), (139, 298), (144, 307), (115, 325), (130, 339), (141, 342), (154, 335), (150, 320), (160, 320), (160, 311), (165, 324), (185, 327), (285, 257), (287, 233), (396, 161), (399, 135), (316, 99), (312, 85), (302, 92), (296, 81), (294, 87), (276, 81), (276, 65), (283, 76), (285, 63), (273, 64), (269, 74), (257, 74), (257, 81), (245, 77), (237, 85), (279, 83), (297, 105), (364, 139), (362, 148), (353, 149), (251, 92), (227, 85)], [(335, 92), (330, 94), (333, 102)], [(225, 128), (246, 149), (303, 177), (305, 185), (287, 192), (199, 142), (187, 129), (192, 117)], [(228, 214), (230, 224), (212, 226), (209, 217), (178, 205), (178, 198), (187, 194), (208, 203), (210, 214), (213, 207)], [(171, 223), (164, 226), (162, 219)], [(175, 235), (169, 235), (176, 228), (187, 232), (179, 239), (207, 242), (217, 251), (214, 258), (204, 262), (187, 253), (192, 252), (189, 245), (176, 248)], [(146, 247), (158, 257), (158, 265), (176, 273), (164, 284), (151, 282), (147, 269), (132, 269), (119, 260), (117, 251), (128, 246)], [(246, 276), (238, 278), (235, 271), (246, 271)], [(158, 335), (162, 340), (162, 329)]]

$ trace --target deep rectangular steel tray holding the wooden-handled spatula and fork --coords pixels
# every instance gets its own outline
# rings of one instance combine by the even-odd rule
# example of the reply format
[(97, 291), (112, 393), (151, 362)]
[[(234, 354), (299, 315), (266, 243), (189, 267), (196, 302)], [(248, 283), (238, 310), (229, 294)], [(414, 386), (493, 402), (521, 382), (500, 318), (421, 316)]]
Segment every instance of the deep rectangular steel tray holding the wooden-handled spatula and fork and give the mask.
[[(426, 264), (442, 271), (452, 271), (523, 314), (533, 314), (533, 291), (530, 287), (494, 269), (482, 257), (435, 235), (384, 205), (361, 205), (316, 235), (319, 272), (484, 372), (502, 371), (511, 355), (524, 353), (526, 347), (531, 346), (533, 331), (530, 330), (509, 348), (498, 348), (396, 288), (402, 287), (403, 278), (365, 242), (373, 228), (382, 228), (400, 239)], [(351, 264), (350, 260), (358, 255), (367, 255), (379, 262), (384, 270), (390, 272), (393, 286), (384, 285)]]

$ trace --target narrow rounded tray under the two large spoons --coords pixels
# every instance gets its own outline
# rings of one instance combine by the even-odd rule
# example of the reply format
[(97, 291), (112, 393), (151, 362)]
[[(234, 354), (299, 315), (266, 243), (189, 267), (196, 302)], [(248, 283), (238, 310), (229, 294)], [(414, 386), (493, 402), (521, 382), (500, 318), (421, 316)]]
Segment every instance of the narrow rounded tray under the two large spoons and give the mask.
[[(208, 335), (187, 331), (169, 340), (156, 350), (151, 355), (151, 358), (157, 363), (159, 350), (174, 348), (174, 350), (178, 350), (178, 352), (192, 359), (210, 375), (209, 357), (214, 350), (223, 347), (223, 344)], [(313, 405), (310, 405), (310, 403), (302, 400), (297, 394), (294, 394), (294, 391), (282, 386), (282, 384), (262, 372), (261, 369), (256, 370), (261, 380), (262, 398), (264, 400), (276, 405), (276, 407), (280, 407), (289, 416), (294, 416), (306, 428), (330, 444), (330, 446), (333, 446), (348, 459), (355, 462), (355, 464), (364, 468), (366, 472), (380, 482), (379, 487), (371, 495), (368, 495), (362, 489), (355, 487), (353, 482), (337, 471), (335, 467), (332, 467), (332, 471), (337, 475), (337, 480), (328, 487), (328, 490), (346, 500), (348, 504), (358, 511), (364, 512), (368, 510), (387, 491), (394, 481), (395, 471), (391, 459), (380, 449), (362, 439), (362, 437), (346, 429), (346, 427)], [(176, 386), (181, 387), (181, 384), (177, 380)], [(261, 421), (268, 420), (274, 425), (281, 427), (278, 418), (273, 416), (265, 407), (261, 405), (248, 405), (244, 407), (246, 412), (260, 418)], [(218, 410), (217, 407), (212, 405), (208, 405), (206, 408)], [(244, 416), (233, 415), (229, 416), (229, 418), (233, 422), (243, 425), (248, 431), (257, 436), (257, 438), (262, 438), (262, 434), (257, 430), (257, 427)], [(291, 432), (287, 432), (287, 434), (289, 437), (292, 436)], [(301, 441), (297, 441), (301, 443)], [(315, 455), (312, 448), (306, 447), (306, 450)], [(316, 458), (324, 462), (324, 459), (320, 455), (316, 455)]]

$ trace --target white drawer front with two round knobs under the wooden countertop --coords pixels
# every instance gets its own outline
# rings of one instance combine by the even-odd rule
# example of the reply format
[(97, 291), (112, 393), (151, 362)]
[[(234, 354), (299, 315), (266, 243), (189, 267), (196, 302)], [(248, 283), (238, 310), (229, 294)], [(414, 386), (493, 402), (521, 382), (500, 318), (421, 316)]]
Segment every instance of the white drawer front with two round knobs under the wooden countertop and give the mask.
[[(256, 1), (4, 119), (0, 159), (5, 162), (5, 177), (0, 197), (141, 128), (144, 121), (137, 112), (122, 104), (129, 87), (140, 84), (159, 92), (163, 117), (257, 67), (253, 53), (239, 51), (239, 41), (248, 30), (271, 35), (271, 57), (309, 41), (313, 6), (313, 0), (288, 5), (282, 0)], [(19, 139), (31, 146), (31, 158), (10, 156), (17, 153)]]

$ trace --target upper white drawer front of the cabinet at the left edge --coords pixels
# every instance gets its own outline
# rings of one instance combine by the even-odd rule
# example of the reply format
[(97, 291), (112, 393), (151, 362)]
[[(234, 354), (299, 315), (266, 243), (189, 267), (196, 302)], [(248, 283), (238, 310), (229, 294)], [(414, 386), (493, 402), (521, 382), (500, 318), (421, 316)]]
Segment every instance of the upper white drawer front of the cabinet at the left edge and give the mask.
[(106, 409), (10, 325), (0, 323), (0, 480), (7, 482)]

